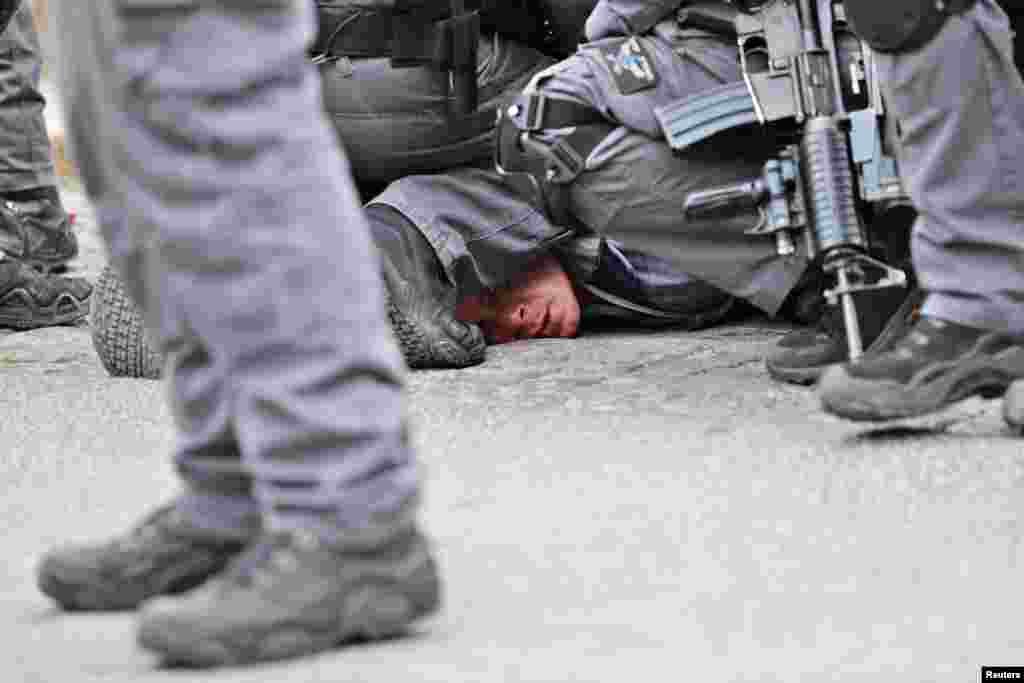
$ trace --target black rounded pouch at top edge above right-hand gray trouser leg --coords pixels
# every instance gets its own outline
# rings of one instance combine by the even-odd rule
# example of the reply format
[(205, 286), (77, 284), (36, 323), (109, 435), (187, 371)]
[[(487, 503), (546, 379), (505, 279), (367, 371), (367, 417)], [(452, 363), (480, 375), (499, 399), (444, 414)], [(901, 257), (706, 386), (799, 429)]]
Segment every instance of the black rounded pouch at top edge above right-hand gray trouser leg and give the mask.
[(926, 45), (946, 19), (974, 7), (977, 0), (846, 0), (854, 31), (879, 52), (910, 52)]

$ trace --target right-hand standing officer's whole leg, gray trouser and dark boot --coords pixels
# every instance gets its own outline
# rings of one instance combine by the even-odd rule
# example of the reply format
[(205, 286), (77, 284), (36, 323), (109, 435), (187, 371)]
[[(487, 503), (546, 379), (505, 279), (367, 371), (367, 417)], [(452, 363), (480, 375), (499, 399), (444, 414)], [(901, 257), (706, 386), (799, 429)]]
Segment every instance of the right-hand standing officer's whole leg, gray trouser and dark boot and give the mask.
[(879, 61), (902, 129), (901, 168), (919, 210), (912, 258), (928, 296), (891, 352), (822, 381), (825, 408), (854, 419), (997, 396), (1024, 376), (1024, 84), (1006, 15), (979, 0), (933, 17), (941, 28), (923, 45), (882, 44), (892, 35), (870, 16), (859, 28), (888, 50)]

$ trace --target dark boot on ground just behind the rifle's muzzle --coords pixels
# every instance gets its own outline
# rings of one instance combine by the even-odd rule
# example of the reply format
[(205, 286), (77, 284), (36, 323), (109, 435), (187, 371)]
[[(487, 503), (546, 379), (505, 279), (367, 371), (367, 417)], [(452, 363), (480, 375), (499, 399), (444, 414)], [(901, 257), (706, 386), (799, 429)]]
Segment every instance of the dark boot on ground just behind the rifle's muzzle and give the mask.
[[(901, 287), (858, 292), (853, 298), (865, 349), (877, 344), (890, 322), (912, 315), (921, 303), (916, 288), (909, 293)], [(796, 330), (783, 337), (778, 346), (765, 361), (768, 374), (780, 382), (814, 384), (825, 368), (849, 358), (842, 309), (838, 304), (825, 306), (813, 330)]]

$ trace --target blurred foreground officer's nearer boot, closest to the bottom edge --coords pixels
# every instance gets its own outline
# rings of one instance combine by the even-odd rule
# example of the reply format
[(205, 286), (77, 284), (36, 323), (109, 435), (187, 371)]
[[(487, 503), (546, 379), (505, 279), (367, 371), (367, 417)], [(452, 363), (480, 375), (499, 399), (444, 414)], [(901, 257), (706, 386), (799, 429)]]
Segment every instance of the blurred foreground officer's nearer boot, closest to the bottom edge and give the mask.
[(167, 664), (241, 665), (399, 635), (439, 604), (437, 568), (415, 528), (370, 546), (267, 533), (201, 588), (147, 603), (138, 641)]

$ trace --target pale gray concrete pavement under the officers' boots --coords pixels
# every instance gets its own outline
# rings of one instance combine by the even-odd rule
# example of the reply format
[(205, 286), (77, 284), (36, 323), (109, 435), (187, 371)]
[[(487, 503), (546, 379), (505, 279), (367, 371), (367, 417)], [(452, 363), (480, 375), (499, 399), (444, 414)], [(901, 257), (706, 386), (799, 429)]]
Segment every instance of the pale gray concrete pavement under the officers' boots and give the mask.
[[(80, 195), (84, 254), (102, 250)], [(755, 323), (493, 348), (411, 376), (446, 609), (412, 637), (163, 671), (130, 614), (33, 585), (62, 540), (174, 493), (159, 383), (105, 376), (85, 328), (0, 338), (2, 680), (974, 681), (1024, 665), (1024, 440), (998, 402), (865, 429), (771, 382)], [(3, 334), (3, 333), (0, 333)]]

